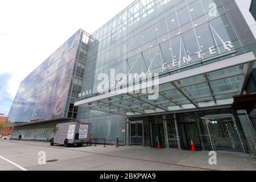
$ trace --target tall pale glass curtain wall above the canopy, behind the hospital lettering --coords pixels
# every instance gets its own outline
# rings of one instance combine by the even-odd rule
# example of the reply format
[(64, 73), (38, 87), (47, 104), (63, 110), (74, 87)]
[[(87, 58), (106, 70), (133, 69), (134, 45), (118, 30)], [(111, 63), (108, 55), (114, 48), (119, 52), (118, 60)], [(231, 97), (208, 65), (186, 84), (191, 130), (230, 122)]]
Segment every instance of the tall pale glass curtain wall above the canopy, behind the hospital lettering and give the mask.
[(90, 45), (82, 90), (97, 87), (95, 75), (110, 69), (162, 73), (163, 64), (170, 71), (233, 49), (225, 42), (241, 47), (220, 0), (135, 1), (92, 36), (98, 42)]

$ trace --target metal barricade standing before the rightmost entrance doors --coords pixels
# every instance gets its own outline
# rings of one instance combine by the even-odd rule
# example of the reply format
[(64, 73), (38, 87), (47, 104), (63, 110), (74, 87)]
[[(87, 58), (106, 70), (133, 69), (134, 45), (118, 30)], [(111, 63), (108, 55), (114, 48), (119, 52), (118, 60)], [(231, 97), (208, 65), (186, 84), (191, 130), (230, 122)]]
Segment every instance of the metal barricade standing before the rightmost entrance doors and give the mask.
[(238, 138), (213, 138), (214, 151), (227, 152), (243, 152), (243, 154), (251, 154), (249, 144), (246, 139)]

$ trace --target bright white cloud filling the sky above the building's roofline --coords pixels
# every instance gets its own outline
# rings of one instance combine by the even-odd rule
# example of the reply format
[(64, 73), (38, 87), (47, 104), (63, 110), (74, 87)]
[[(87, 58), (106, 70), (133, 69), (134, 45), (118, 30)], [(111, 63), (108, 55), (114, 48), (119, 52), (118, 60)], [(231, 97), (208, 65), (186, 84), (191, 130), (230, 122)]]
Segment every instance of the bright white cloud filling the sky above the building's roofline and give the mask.
[(0, 75), (11, 73), (7, 92), (79, 28), (92, 34), (133, 0), (10, 0), (0, 2)]

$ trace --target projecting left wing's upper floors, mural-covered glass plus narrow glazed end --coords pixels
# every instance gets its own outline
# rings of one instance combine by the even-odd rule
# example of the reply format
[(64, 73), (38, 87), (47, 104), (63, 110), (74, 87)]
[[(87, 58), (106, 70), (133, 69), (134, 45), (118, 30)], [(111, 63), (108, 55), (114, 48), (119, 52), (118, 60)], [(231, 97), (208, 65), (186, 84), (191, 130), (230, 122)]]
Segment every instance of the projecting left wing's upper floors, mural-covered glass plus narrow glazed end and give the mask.
[(77, 31), (21, 83), (10, 109), (12, 122), (76, 118), (90, 35)]

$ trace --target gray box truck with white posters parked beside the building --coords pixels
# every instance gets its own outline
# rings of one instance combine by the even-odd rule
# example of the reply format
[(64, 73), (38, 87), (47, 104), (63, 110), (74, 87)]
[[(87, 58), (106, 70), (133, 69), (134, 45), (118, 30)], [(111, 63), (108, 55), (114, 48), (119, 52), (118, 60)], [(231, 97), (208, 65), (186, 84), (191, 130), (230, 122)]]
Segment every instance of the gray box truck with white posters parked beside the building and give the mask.
[(71, 121), (67, 123), (59, 123), (56, 125), (54, 133), (51, 136), (51, 146), (54, 144), (64, 144), (65, 147), (82, 146), (90, 140), (91, 124)]

